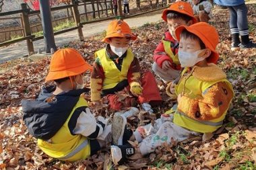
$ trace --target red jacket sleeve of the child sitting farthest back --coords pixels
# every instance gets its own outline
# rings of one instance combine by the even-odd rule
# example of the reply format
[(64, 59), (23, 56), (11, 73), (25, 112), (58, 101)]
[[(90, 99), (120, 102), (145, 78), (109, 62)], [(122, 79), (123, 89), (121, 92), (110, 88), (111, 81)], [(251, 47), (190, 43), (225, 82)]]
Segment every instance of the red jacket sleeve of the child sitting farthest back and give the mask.
[(164, 44), (161, 42), (158, 44), (156, 47), (156, 50), (154, 51), (154, 56), (153, 56), (154, 62), (158, 65), (158, 67), (162, 68), (162, 62), (168, 60), (170, 63), (172, 63), (172, 59), (166, 54), (164, 50)]

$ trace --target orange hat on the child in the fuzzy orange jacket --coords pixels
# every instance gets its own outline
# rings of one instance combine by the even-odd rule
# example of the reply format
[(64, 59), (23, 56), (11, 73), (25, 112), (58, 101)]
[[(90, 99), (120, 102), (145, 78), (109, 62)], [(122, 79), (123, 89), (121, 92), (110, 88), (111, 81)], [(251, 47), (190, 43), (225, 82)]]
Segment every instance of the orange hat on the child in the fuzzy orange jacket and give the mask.
[(180, 35), (183, 30), (187, 30), (198, 36), (203, 44), (205, 44), (205, 48), (209, 48), (212, 51), (212, 54), (207, 58), (207, 62), (216, 63), (219, 58), (218, 52), (216, 52), (216, 46), (219, 42), (218, 32), (213, 26), (210, 26), (206, 22), (199, 22), (196, 24), (192, 24), (191, 26), (179, 26), (175, 30), (175, 34), (177, 40), (180, 41)]

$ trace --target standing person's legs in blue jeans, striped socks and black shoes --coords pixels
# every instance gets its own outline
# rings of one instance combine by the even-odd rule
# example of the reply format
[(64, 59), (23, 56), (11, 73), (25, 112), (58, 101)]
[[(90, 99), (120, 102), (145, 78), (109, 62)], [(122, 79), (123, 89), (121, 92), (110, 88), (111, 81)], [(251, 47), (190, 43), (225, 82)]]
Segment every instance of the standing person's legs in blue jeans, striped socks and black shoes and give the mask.
[[(229, 27), (232, 36), (231, 50), (255, 48), (256, 44), (249, 40), (248, 9), (245, 5), (245, 0), (214, 0), (214, 3), (226, 6), (230, 11)], [(241, 40), (239, 36), (241, 36)]]

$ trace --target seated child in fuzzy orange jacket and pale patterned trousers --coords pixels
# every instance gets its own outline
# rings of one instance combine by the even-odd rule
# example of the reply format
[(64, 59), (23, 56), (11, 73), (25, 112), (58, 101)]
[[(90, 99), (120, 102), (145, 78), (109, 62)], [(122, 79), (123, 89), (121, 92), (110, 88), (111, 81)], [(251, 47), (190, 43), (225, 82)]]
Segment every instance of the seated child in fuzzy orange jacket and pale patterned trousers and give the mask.
[[(215, 50), (218, 44), (216, 29), (199, 22), (180, 26), (175, 33), (180, 42), (181, 67), (185, 67), (175, 86), (178, 103), (162, 115), (162, 119), (156, 120), (154, 126), (149, 124), (135, 130), (130, 139), (139, 142), (138, 148), (129, 144), (111, 146), (115, 164), (122, 163), (135, 152), (146, 155), (164, 142), (179, 142), (191, 135), (214, 132), (222, 126), (234, 92), (225, 73), (213, 64), (219, 57)], [(173, 120), (170, 112), (174, 114)]]

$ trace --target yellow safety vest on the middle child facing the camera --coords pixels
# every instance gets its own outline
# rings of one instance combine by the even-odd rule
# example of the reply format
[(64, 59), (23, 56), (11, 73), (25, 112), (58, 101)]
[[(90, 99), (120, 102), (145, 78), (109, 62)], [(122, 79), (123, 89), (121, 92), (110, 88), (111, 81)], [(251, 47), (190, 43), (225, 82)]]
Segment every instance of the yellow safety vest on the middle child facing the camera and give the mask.
[(124, 79), (127, 79), (127, 73), (134, 58), (130, 49), (127, 50), (127, 56), (123, 58), (121, 71), (117, 69), (115, 62), (113, 62), (113, 60), (109, 58), (108, 54), (106, 54), (105, 48), (95, 52), (95, 56), (100, 59), (100, 63), (104, 70), (105, 79), (103, 81), (102, 89), (111, 89)]

